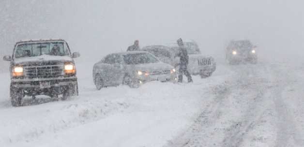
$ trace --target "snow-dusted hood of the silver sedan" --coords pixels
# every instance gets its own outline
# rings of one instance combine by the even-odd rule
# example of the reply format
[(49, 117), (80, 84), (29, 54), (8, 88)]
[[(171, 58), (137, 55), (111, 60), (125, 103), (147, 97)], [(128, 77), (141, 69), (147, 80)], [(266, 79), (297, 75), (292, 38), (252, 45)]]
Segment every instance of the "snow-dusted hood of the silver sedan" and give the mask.
[(130, 65), (135, 70), (142, 70), (142, 71), (156, 71), (161, 69), (167, 69), (171, 70), (173, 69), (173, 66), (163, 63), (163, 62), (157, 62), (157, 63), (149, 63), (149, 64), (137, 64), (137, 65)]

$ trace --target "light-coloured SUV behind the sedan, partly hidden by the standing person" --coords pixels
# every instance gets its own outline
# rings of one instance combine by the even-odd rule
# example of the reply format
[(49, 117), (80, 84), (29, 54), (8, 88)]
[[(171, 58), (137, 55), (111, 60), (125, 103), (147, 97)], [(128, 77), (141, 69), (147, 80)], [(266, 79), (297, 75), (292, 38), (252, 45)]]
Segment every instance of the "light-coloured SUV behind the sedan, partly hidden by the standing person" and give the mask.
[[(209, 77), (216, 69), (216, 62), (213, 57), (203, 56), (200, 52), (198, 44), (194, 41), (184, 41), (189, 56), (188, 71), (193, 75), (200, 75), (201, 78)], [(179, 51), (177, 44), (152, 45), (142, 48), (155, 55), (161, 61), (175, 66), (179, 63), (179, 59), (175, 55)]]

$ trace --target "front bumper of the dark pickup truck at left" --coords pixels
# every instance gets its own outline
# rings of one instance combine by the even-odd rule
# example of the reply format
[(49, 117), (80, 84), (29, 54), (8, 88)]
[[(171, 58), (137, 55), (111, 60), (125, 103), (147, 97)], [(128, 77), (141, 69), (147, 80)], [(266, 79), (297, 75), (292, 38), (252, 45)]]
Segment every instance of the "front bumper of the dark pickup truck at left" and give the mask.
[(41, 78), (41, 79), (12, 79), (14, 88), (41, 88), (41, 83), (49, 83), (50, 88), (77, 85), (77, 77)]

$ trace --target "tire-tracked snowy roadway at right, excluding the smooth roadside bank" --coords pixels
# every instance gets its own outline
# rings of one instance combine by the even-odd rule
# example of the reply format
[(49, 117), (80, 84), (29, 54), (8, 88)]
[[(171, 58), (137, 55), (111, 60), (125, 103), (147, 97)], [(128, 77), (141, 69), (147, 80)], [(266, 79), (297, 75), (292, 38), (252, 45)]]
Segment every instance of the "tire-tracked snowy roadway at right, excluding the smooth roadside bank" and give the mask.
[(236, 74), (167, 147), (304, 147), (304, 71), (290, 65), (231, 67)]

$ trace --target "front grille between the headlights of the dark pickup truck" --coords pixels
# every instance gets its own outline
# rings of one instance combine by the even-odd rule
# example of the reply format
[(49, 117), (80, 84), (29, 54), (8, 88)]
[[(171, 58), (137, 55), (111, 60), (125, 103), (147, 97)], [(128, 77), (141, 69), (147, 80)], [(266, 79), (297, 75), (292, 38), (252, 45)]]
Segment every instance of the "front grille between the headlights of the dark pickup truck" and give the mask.
[(28, 66), (24, 67), (27, 78), (52, 78), (63, 76), (63, 65)]

